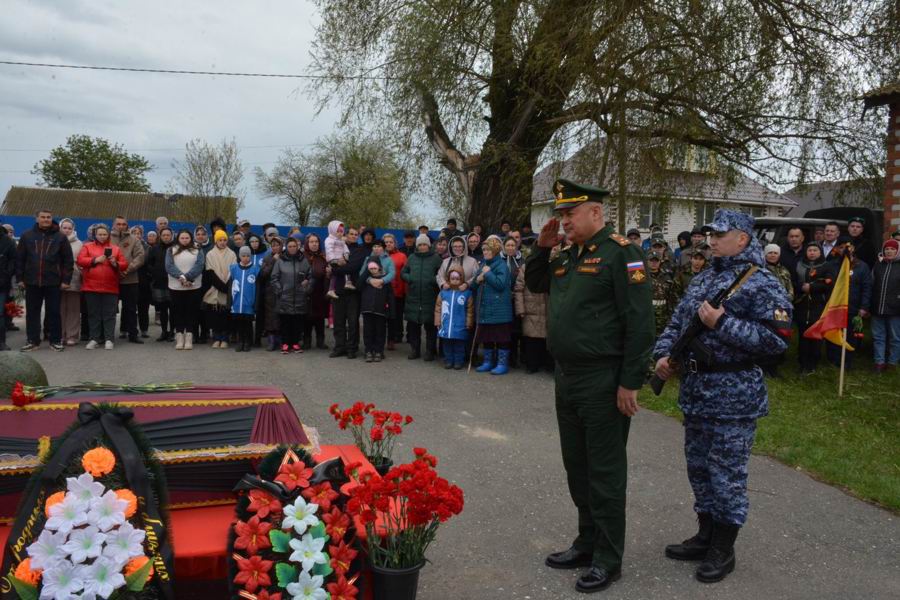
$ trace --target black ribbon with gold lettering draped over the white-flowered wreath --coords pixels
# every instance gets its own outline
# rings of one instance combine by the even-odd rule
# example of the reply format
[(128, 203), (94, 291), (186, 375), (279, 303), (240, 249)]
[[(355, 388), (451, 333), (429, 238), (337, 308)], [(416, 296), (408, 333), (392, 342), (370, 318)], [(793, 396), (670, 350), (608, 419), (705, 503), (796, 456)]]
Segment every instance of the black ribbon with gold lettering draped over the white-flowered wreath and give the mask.
[[(101, 409), (90, 402), (78, 405), (79, 427), (73, 429), (53, 452), (41, 470), (38, 481), (29, 483), (19, 504), (18, 514), (3, 552), (3, 566), (0, 570), (3, 579), (12, 577), (15, 565), (26, 557), (25, 547), (37, 537), (38, 532), (34, 530), (34, 526), (37, 517), (44, 510), (47, 488), (56, 484), (76, 454), (83, 453), (86, 447), (91, 446), (105, 434), (109, 439), (110, 449), (118, 456), (125, 470), (128, 487), (138, 498), (138, 510), (151, 552), (150, 560), (162, 597), (166, 600), (175, 600), (172, 584), (174, 555), (169, 544), (166, 525), (160, 514), (158, 499), (150, 478), (147, 477), (144, 456), (126, 427), (133, 418), (134, 412), (124, 406), (113, 405)], [(7, 589), (7, 583), (3, 581), (0, 597), (4, 600), (18, 598), (14, 589)]]

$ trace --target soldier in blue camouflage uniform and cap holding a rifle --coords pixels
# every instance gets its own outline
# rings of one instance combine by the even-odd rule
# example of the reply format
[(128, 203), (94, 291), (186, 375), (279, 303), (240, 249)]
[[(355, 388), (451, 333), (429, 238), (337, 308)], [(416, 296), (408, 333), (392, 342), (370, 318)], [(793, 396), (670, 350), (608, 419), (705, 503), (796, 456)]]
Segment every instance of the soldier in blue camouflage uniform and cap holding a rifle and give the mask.
[[(721, 581), (734, 570), (734, 543), (749, 507), (747, 464), (756, 420), (768, 413), (766, 382), (757, 361), (784, 352), (791, 327), (791, 302), (766, 269), (753, 225), (750, 215), (716, 211), (703, 228), (711, 234), (712, 268), (694, 276), (653, 351), (656, 374), (669, 379), (672, 345), (697, 315), (705, 328), (695, 340), (714, 357), (707, 362), (693, 348), (677, 357), (682, 365), (678, 404), (684, 413), (684, 453), (699, 531), (665, 549), (669, 558), (701, 561), (695, 577), (704, 583)], [(718, 308), (709, 303), (736, 282), (739, 287)]]

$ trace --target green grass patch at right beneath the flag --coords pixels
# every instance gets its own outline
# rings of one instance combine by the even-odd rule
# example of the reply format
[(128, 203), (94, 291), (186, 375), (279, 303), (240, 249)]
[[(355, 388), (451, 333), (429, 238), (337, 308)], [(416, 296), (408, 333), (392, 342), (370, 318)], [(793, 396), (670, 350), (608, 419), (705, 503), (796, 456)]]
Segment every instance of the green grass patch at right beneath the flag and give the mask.
[[(900, 370), (875, 375), (868, 346), (845, 373), (843, 398), (838, 369), (823, 361), (801, 376), (794, 347), (779, 371), (767, 379), (769, 416), (759, 420), (753, 451), (900, 512)], [(682, 416), (674, 380), (659, 397), (645, 386), (640, 402)]]

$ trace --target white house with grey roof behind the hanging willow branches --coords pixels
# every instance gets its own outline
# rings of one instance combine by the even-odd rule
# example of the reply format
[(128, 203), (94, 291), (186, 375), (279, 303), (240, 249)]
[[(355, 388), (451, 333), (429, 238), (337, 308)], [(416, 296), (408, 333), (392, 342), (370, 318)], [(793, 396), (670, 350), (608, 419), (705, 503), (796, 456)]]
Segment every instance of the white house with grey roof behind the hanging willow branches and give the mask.
[[(531, 224), (536, 231), (553, 212), (552, 186), (558, 177), (610, 190), (605, 216), (609, 221), (617, 221), (619, 203), (615, 190), (619, 187), (619, 174), (608, 156), (606, 176), (599, 181), (596, 165), (602, 164), (603, 153), (601, 140), (535, 175)], [(633, 149), (629, 161), (625, 231), (637, 228), (644, 237), (649, 235), (651, 224), (658, 224), (666, 239), (674, 244), (680, 232), (709, 223), (717, 208), (734, 208), (754, 217), (778, 217), (797, 206), (795, 200), (720, 165), (715, 155), (703, 148), (646, 146)]]

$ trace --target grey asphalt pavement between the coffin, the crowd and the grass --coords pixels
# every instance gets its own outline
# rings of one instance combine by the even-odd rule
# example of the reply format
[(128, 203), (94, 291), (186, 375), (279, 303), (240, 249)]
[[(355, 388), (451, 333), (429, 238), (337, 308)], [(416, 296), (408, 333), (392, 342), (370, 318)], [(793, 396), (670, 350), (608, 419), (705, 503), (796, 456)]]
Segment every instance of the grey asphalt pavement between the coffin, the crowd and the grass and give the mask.
[[(154, 328), (155, 329), (155, 328)], [(156, 335), (156, 332), (151, 330)], [(22, 334), (11, 334), (17, 347)], [(405, 346), (401, 346), (405, 349)], [(283, 357), (255, 350), (119, 344), (32, 353), (61, 384), (89, 377), (144, 383), (183, 381), (281, 387), (326, 443), (351, 443), (327, 413), (363, 399), (417, 419), (397, 454), (426, 446), (441, 473), (466, 492), (466, 508), (442, 526), (423, 571), (422, 600), (582, 598), (576, 572), (543, 566), (568, 546), (575, 511), (568, 498), (549, 375), (505, 377), (445, 371), (389, 353), (379, 365), (310, 351)], [(764, 457), (750, 466), (751, 512), (725, 582), (694, 581), (693, 566), (663, 557), (666, 543), (693, 534), (681, 427), (642, 411), (631, 428), (628, 540), (624, 574), (608, 598), (900, 598), (900, 521)]]

